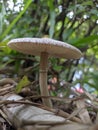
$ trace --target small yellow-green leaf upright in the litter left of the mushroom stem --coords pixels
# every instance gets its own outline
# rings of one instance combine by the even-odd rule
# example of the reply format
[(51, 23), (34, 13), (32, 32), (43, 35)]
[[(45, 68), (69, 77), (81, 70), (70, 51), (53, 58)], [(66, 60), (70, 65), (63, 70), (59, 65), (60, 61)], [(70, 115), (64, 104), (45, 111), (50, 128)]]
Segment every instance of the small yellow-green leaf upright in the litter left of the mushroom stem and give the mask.
[(19, 93), (23, 87), (27, 86), (30, 84), (30, 81), (28, 80), (27, 76), (24, 76), (18, 85), (16, 86), (16, 92)]

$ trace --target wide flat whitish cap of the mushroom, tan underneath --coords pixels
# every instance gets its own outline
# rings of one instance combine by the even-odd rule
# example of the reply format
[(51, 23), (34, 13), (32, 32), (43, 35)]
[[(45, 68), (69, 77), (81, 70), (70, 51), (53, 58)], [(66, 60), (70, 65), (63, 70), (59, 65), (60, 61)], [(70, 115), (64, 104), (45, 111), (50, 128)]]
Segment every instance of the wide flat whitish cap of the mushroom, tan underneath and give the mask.
[(46, 52), (49, 56), (66, 59), (79, 59), (82, 56), (81, 51), (76, 47), (50, 38), (17, 38), (12, 39), (8, 46), (31, 55), (40, 55), (41, 52)]

